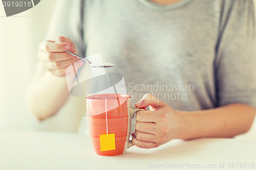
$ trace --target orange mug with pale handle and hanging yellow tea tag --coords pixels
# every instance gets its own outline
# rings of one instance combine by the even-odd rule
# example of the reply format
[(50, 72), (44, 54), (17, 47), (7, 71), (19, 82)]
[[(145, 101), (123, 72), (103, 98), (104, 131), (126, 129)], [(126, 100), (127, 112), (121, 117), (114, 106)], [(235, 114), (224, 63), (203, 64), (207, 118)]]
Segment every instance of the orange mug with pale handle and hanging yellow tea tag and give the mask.
[(97, 155), (117, 156), (126, 153), (133, 143), (132, 118), (144, 108), (131, 106), (127, 94), (97, 94), (88, 96), (87, 120), (90, 138)]

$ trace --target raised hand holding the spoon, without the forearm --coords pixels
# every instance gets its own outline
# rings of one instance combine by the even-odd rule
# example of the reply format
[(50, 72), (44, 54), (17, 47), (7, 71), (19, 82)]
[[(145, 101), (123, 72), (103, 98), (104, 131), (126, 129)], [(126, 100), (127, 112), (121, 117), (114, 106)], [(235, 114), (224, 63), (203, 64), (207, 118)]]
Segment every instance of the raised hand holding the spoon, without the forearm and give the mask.
[(76, 44), (68, 37), (59, 36), (55, 41), (45, 40), (39, 45), (37, 59), (52, 75), (64, 77), (69, 65), (74, 63), (75, 68), (79, 68), (83, 64), (82, 61), (78, 61), (78, 57), (66, 53), (67, 50), (77, 52)]

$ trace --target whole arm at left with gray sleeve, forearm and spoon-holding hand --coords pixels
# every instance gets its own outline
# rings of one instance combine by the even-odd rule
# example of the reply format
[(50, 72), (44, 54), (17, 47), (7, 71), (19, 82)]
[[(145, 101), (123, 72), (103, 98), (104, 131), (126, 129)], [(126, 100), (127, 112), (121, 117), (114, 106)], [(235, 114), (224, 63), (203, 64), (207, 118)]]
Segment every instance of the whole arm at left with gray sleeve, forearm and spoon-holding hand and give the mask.
[[(65, 78), (66, 68), (72, 63), (75, 63), (76, 68), (81, 65), (76, 62), (75, 57), (65, 51), (85, 53), (82, 28), (83, 8), (83, 0), (56, 2), (46, 35), (46, 39), (49, 40), (40, 44), (37, 56), (45, 71), (38, 65), (27, 89), (27, 104), (38, 119), (57, 113), (69, 96)], [(65, 37), (59, 37), (59, 35)], [(68, 48), (65, 48), (65, 45), (69, 45)]]

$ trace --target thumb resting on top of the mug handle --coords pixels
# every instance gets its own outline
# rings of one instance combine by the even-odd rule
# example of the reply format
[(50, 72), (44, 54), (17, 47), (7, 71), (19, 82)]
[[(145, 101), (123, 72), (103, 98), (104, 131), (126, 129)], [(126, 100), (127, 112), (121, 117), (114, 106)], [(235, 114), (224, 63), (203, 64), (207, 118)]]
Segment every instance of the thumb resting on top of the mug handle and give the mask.
[(166, 104), (162, 101), (160, 101), (158, 98), (156, 98), (154, 95), (151, 94), (145, 94), (143, 98), (135, 104), (135, 107), (137, 108), (145, 108), (147, 106), (152, 106), (153, 108), (163, 107), (166, 106)]

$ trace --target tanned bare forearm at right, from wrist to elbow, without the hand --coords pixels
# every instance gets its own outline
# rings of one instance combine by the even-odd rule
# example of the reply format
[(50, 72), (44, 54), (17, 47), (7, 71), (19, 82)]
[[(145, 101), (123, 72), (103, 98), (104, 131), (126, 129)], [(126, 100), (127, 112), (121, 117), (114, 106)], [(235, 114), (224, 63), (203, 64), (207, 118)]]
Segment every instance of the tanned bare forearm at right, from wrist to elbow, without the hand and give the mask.
[(239, 103), (215, 109), (180, 112), (183, 123), (176, 138), (234, 137), (250, 129), (255, 112), (252, 107)]

